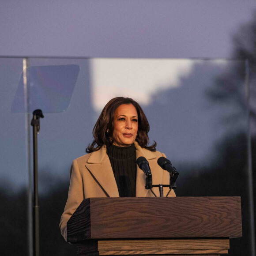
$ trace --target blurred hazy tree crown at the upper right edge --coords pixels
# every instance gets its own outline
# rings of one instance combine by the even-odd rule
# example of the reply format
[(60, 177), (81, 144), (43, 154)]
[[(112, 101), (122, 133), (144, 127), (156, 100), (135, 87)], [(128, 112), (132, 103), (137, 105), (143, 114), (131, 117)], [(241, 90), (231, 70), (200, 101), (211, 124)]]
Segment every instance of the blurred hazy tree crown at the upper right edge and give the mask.
[[(208, 90), (207, 95), (214, 102), (232, 101), (236, 104), (240, 114), (247, 112), (247, 98), (245, 88), (241, 87), (246, 82), (248, 75), (248, 85), (250, 88), (250, 117), (252, 127), (256, 127), (256, 11), (254, 18), (250, 23), (240, 27), (238, 32), (233, 36), (233, 59), (241, 60), (244, 64), (234, 61), (232, 67), (215, 81), (215, 86)], [(248, 69), (245, 64), (248, 60)], [(247, 73), (247, 74), (246, 74)], [(240, 115), (241, 116), (241, 115)], [(238, 121), (239, 116), (230, 118)]]

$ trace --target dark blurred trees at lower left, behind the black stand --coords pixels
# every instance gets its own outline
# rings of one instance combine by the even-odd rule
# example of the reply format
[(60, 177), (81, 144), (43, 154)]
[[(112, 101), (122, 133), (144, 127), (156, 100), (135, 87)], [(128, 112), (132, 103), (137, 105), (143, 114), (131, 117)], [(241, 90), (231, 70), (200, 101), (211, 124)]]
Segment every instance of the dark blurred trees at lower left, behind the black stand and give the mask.
[[(75, 255), (76, 247), (65, 242), (60, 234), (60, 216), (68, 196), (69, 181), (60, 181), (48, 169), (43, 174), (43, 187), (55, 184), (46, 193), (39, 194), (40, 255)], [(3, 188), (5, 187), (5, 188)], [(28, 255), (27, 192), (23, 188), (13, 191), (13, 185), (0, 185), (0, 243), (1, 256)]]

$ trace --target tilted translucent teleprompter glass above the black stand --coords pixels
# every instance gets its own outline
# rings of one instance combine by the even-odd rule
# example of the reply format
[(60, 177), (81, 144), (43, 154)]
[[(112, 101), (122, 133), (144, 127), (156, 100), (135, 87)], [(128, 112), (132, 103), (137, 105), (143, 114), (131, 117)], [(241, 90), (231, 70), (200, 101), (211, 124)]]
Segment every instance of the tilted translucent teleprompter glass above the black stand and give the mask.
[(19, 87), (11, 105), (12, 113), (26, 113), (24, 107), (24, 74), (27, 79), (27, 113), (41, 109), (43, 113), (56, 113), (68, 109), (75, 82), (79, 73), (78, 65), (55, 65), (30, 67), (23, 71)]

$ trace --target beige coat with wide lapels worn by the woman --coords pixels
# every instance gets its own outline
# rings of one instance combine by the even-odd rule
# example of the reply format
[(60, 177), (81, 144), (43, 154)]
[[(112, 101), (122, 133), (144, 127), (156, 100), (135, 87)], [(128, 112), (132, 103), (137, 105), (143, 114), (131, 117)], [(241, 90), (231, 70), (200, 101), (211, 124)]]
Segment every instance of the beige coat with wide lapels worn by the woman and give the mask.
[[(136, 142), (134, 144), (136, 158), (143, 156), (149, 162), (153, 184), (169, 184), (169, 173), (157, 163), (158, 158), (165, 157), (165, 154), (144, 149)], [(145, 183), (146, 175), (137, 165), (136, 197), (154, 196), (150, 190), (145, 189)], [(158, 188), (153, 188), (153, 191), (159, 196)], [(164, 196), (168, 191), (169, 188), (164, 188)], [(169, 196), (175, 196), (173, 190)], [(68, 200), (60, 220), (61, 234), (66, 241), (69, 218), (83, 199), (90, 197), (119, 197), (117, 183), (105, 146), (99, 151), (75, 159), (72, 163)]]

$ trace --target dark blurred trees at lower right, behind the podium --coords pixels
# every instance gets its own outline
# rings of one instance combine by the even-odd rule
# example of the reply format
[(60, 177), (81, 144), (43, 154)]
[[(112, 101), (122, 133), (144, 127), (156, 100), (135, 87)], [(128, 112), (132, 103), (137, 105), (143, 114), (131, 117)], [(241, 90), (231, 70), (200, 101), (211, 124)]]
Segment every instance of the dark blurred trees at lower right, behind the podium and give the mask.
[(196, 165), (183, 166), (182, 171), (187, 168), (189, 172), (185, 181), (177, 181), (177, 195), (241, 196), (243, 237), (230, 240), (229, 255), (250, 256), (246, 134), (227, 136), (216, 143), (215, 150), (208, 167), (198, 170)]

